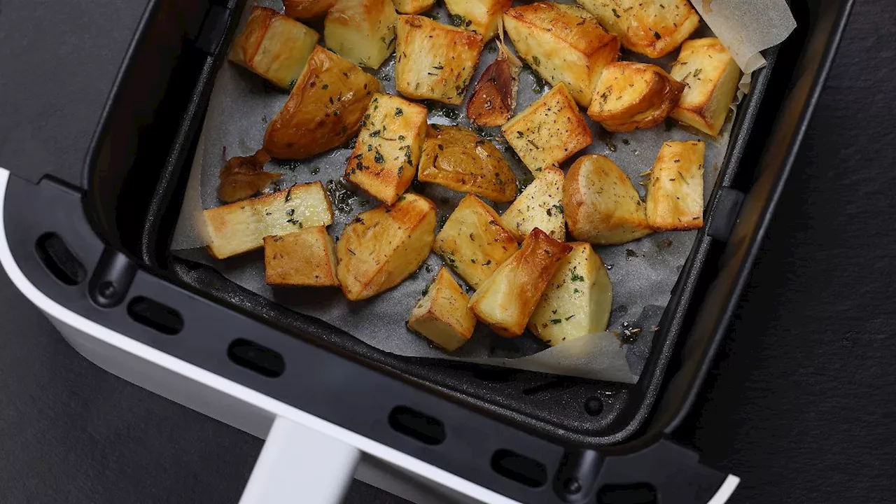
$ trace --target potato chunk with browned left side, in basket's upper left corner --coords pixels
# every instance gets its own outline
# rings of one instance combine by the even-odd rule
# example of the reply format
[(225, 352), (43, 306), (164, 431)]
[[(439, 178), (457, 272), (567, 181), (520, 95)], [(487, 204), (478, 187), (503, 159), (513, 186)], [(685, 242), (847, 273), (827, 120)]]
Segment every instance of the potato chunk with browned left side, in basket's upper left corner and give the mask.
[(320, 36), (296, 20), (255, 6), (228, 59), (288, 90), (302, 73)]

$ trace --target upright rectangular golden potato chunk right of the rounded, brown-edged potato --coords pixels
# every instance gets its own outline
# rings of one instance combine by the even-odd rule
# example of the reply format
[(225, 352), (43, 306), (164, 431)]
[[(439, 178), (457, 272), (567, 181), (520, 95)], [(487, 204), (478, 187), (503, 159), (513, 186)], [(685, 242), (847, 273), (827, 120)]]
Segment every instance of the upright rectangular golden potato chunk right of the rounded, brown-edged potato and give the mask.
[(699, 140), (666, 142), (650, 169), (647, 222), (654, 230), (696, 230), (703, 225), (703, 153)]

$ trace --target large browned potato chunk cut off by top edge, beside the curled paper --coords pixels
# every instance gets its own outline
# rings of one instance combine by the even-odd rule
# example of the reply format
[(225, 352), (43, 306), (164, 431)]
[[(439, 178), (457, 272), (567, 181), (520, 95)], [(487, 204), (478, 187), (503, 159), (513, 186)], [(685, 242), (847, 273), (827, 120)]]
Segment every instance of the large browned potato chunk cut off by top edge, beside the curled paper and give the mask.
[(576, 0), (625, 48), (662, 57), (700, 26), (700, 14), (687, 0)]

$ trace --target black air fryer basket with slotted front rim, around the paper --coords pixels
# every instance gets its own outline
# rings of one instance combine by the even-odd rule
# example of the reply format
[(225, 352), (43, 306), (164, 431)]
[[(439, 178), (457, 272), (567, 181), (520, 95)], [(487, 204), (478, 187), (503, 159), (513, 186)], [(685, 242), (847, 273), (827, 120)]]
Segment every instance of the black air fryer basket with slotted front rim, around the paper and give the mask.
[[(599, 482), (625, 482), (630, 464), (649, 476), (677, 456), (658, 439), (685, 412), (724, 333), (851, 2), (795, 3), (797, 32), (765, 55), (633, 386), (381, 352), (172, 256), (212, 78), (242, 4), (151, 3), (84, 178), (10, 179), (4, 224), (30, 280), (137, 341), (513, 499), (593, 495)], [(396, 428), (401, 412), (422, 419), (417, 432)], [(522, 476), (500, 472), (505, 452), (520, 456)], [(546, 484), (571, 478), (581, 484)]]

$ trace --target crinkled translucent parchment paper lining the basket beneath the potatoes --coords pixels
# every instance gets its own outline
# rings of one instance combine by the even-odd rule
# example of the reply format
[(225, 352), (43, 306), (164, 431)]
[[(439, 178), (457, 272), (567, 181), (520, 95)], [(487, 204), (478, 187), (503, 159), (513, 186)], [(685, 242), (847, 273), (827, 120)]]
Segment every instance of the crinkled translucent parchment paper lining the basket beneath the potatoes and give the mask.
[[(261, 0), (257, 4), (280, 7), (278, 0)], [(249, 9), (246, 9), (241, 26), (246, 22), (248, 12)], [(444, 7), (439, 6), (429, 14), (435, 14), (441, 22), (450, 23), (450, 15)], [(695, 36), (711, 36), (711, 31), (703, 26)], [(493, 40), (487, 44), (482, 53), (472, 83), (477, 82), (478, 75), (494, 61), (495, 56), (497, 50)], [(674, 57), (675, 53), (654, 63), (668, 69)], [(625, 53), (622, 59), (648, 61), (642, 56)], [(383, 83), (385, 91), (394, 92), (392, 82), (394, 57), (387, 60), (375, 74)], [(549, 89), (539, 81), (540, 79), (536, 78), (530, 69), (523, 69), (517, 112)], [(472, 87), (470, 85), (468, 98)], [(268, 120), (277, 114), (287, 96), (286, 92), (264, 83), (261, 77), (251, 74), (244, 68), (229, 62), (221, 66), (211, 94), (180, 220), (172, 242), (172, 249), (177, 251), (177, 255), (211, 265), (231, 281), (251, 291), (275, 300), (283, 306), (338, 326), (386, 352), (414, 357), (472, 361), (624, 383), (637, 381), (650, 353), (659, 318), (668, 304), (669, 293), (690, 253), (696, 231), (655, 233), (622, 246), (595, 248), (607, 264), (614, 289), (614, 308), (608, 332), (585, 335), (550, 348), (528, 332), (518, 338), (502, 338), (492, 333), (487, 326), (479, 324), (470, 342), (451, 354), (435, 347), (425, 338), (411, 333), (406, 327), (411, 308), (442, 266), (441, 259), (435, 254), (431, 254), (426, 259), (425, 265), (405, 282), (370, 300), (359, 302), (346, 300), (338, 288), (268, 286), (264, 282), (261, 251), (223, 261), (212, 258), (203, 248), (206, 239), (202, 236), (202, 226), (199, 223), (202, 222), (203, 208), (221, 204), (215, 194), (220, 168), (228, 157), (252, 154), (262, 145)], [(430, 123), (470, 126), (464, 113), (466, 102), (461, 107), (430, 105), (432, 105), (429, 114)], [(731, 116), (733, 117), (733, 114)], [(717, 138), (671, 126), (671, 123), (650, 130), (607, 135), (599, 126), (588, 120), (594, 134), (594, 143), (574, 156), (573, 160), (564, 163), (561, 168), (568, 168), (575, 158), (585, 153), (607, 155), (625, 170), (644, 196), (643, 187), (639, 184), (642, 180), (641, 174), (650, 169), (661, 144), (668, 140), (701, 139), (706, 143), (704, 204), (709, 200), (728, 146), (731, 117), (728, 117)], [(483, 135), (493, 139), (521, 182), (531, 180), (529, 170), (522, 165), (513, 149), (500, 138), (500, 128), (486, 128)], [(289, 187), (295, 183), (322, 180), (331, 192), (335, 213), (334, 222), (329, 230), (334, 238), (338, 238), (347, 222), (358, 213), (377, 204), (373, 198), (340, 181), (350, 152), (348, 146), (343, 146), (306, 161), (272, 161), (266, 169), (280, 172), (283, 177), (270, 190)], [(439, 222), (444, 222), (464, 196), (432, 184), (416, 184), (411, 190), (428, 196), (435, 202)], [(508, 204), (496, 204), (495, 208), (502, 213), (507, 206)]]

